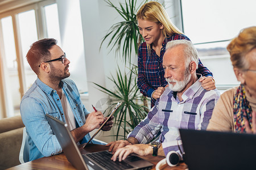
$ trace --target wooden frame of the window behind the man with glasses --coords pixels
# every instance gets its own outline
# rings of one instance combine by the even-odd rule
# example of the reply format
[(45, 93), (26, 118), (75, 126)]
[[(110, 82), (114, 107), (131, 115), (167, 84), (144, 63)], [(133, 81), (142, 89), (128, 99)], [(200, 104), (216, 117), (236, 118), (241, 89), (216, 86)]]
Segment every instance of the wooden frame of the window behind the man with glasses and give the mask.
[[(44, 15), (44, 6), (51, 5), (53, 3), (56, 3), (56, 0), (46, 0), (46, 1), (40, 1), (38, 0), (32, 0), (27, 3), (30, 3), (29, 5), (23, 4), (22, 1), (15, 1), (16, 5), (19, 7), (12, 8), (11, 5), (5, 5), (10, 8), (0, 11), (0, 19), (6, 18), (7, 16), (11, 16), (13, 21), (13, 29), (14, 29), (14, 41), (15, 41), (15, 50), (16, 50), (16, 61), (18, 65), (18, 78), (19, 78), (19, 92), (20, 96), (22, 97), (24, 93), (26, 92), (26, 80), (25, 80), (25, 71), (24, 71), (24, 62), (23, 56), (22, 56), (22, 46), (20, 42), (20, 33), (19, 33), (19, 24), (18, 24), (18, 14), (20, 12), (26, 12), (29, 10), (35, 11), (35, 19), (36, 19), (36, 31), (38, 33), (38, 40), (43, 39), (44, 37), (47, 37), (47, 29), (46, 29), (46, 18)], [(9, 2), (12, 3), (11, 1)], [(7, 91), (7, 84), (6, 81), (6, 66), (5, 66), (5, 49), (3, 48), (3, 36), (2, 36), (2, 24), (0, 22), (0, 118), (2, 117), (8, 117), (8, 116), (14, 116), (14, 109), (13, 105), (10, 105), (9, 101), (11, 100), (10, 97), (8, 97), (8, 91)], [(9, 113), (9, 114), (7, 114)]]

